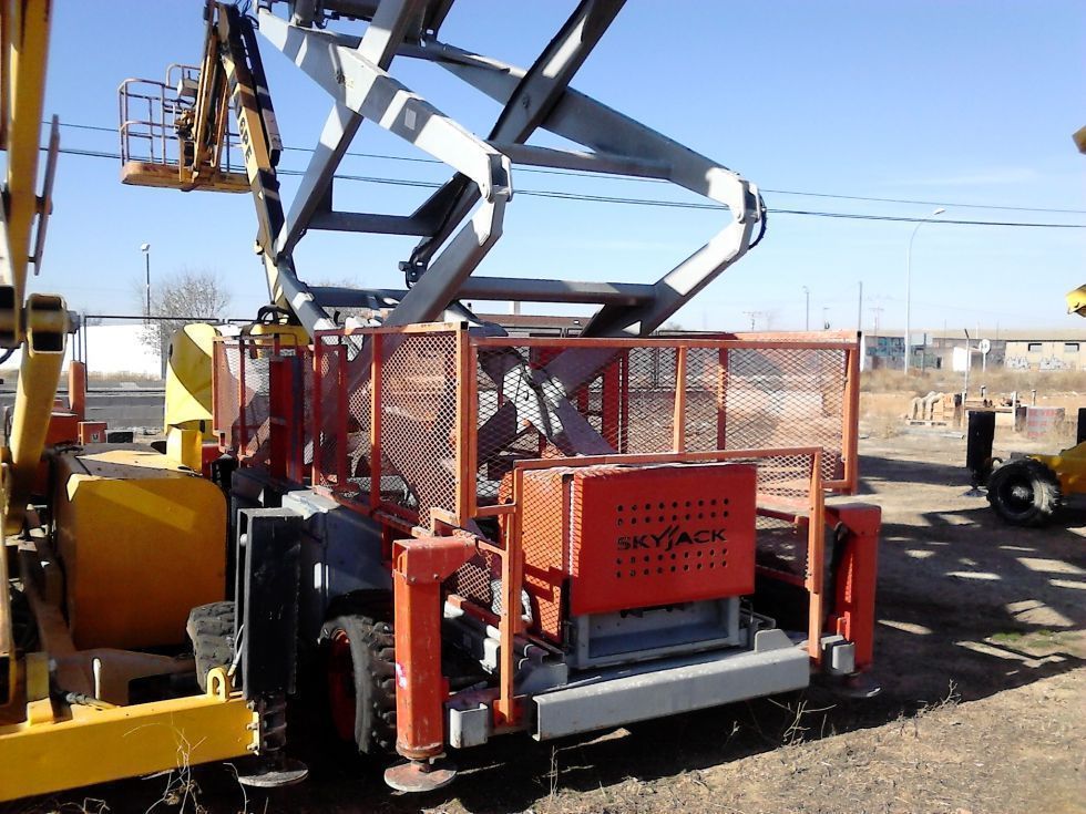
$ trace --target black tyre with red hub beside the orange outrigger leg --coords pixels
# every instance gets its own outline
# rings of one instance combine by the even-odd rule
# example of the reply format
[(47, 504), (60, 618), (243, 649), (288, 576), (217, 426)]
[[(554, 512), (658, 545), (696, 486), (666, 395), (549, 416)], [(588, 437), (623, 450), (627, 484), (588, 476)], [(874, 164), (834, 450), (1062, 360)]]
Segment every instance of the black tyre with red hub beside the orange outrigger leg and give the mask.
[(396, 650), (392, 625), (339, 616), (320, 631), (332, 724), (363, 754), (396, 750)]

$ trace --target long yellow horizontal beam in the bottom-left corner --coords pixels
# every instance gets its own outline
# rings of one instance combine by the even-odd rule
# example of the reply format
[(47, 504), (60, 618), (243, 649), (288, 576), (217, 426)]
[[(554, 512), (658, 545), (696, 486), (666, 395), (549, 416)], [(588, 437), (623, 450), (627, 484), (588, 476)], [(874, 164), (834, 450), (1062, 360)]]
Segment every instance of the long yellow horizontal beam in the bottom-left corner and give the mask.
[(0, 801), (249, 754), (257, 715), (222, 669), (203, 695), (74, 707), (54, 723), (0, 728)]

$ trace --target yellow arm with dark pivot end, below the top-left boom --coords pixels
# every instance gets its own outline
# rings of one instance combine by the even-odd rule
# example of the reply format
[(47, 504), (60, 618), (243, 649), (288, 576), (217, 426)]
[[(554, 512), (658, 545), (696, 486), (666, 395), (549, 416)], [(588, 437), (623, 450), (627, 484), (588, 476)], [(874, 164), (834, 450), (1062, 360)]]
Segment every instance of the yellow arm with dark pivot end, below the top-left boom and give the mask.
[(11, 466), (3, 491), (4, 532), (22, 527), (27, 502), (41, 461), (68, 330), (68, 308), (61, 297), (31, 295), (27, 300), (27, 343), (19, 368), (11, 420)]

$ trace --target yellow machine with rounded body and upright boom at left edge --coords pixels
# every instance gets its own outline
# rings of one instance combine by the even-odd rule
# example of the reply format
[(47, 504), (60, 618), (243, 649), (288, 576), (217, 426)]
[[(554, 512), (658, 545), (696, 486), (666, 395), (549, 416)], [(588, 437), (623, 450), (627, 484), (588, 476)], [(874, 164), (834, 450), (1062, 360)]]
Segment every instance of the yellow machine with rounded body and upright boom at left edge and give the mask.
[[(0, 347), (22, 350), (0, 450), (0, 801), (172, 769), (180, 755), (246, 755), (262, 739), (258, 712), (223, 669), (206, 690), (193, 682), (187, 694), (130, 703), (133, 681), (193, 673), (177, 656), (188, 611), (224, 595), (224, 497), (198, 477), (206, 361), (172, 365), (189, 382), (171, 388), (170, 411), (197, 436), (197, 472), (135, 445), (45, 450), (72, 329), (62, 298), (25, 293), (28, 266), (41, 265), (59, 145), (54, 120), (39, 193), (51, 12), (50, 0), (0, 0)], [(209, 358), (206, 330), (186, 336)], [(202, 387), (191, 383), (195, 368)], [(43, 482), (51, 495), (34, 494)], [(49, 515), (28, 505), (35, 497)]]

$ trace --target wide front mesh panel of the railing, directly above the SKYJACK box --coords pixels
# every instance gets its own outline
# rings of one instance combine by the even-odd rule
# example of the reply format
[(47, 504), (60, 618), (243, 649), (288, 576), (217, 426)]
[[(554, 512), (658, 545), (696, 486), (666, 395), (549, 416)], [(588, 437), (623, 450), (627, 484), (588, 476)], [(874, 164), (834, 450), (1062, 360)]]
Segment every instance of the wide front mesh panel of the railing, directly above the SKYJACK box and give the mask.
[[(848, 357), (840, 348), (486, 344), (478, 359), (481, 503), (496, 499), (501, 476), (520, 458), (660, 453), (676, 441), (687, 452), (821, 446), (823, 480), (844, 474)], [(786, 463), (777, 471), (781, 483), (789, 478)]]

